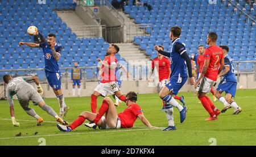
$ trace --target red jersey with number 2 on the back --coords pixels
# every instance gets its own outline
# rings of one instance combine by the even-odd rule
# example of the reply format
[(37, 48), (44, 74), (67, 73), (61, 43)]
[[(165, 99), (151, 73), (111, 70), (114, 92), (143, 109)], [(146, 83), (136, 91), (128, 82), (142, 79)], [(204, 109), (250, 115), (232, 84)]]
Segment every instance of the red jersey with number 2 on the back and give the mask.
[(221, 59), (224, 58), (223, 50), (217, 45), (209, 46), (209, 48), (205, 49), (204, 58), (205, 60), (210, 60), (205, 77), (217, 80), (218, 67), (220, 67)]

